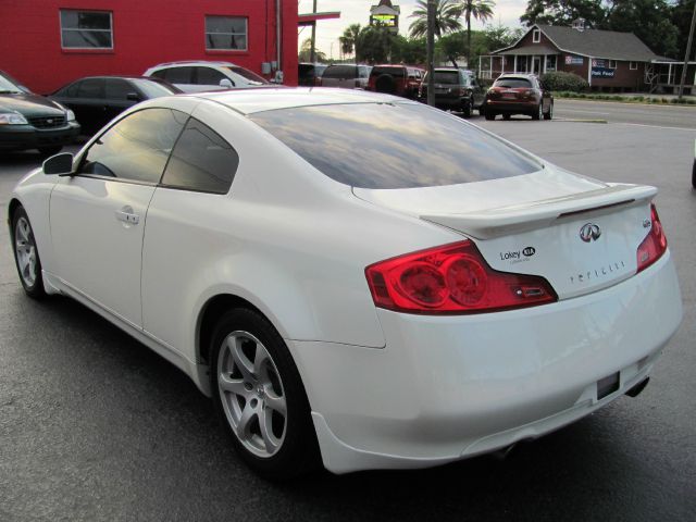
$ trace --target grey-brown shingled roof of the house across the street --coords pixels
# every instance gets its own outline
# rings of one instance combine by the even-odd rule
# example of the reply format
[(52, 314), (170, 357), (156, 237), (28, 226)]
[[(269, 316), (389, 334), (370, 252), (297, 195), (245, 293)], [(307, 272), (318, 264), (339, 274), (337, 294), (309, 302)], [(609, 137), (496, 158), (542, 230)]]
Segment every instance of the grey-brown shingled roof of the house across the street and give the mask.
[[(633, 33), (598, 29), (577, 30), (572, 27), (536, 24), (530, 27), (524, 36), (535, 28), (540, 29), (558, 49), (572, 54), (634, 62), (649, 62), (657, 58)], [(495, 54), (508, 54), (509, 52), (506, 51), (514, 49), (522, 38), (511, 47), (495, 51)], [(539, 53), (543, 54), (543, 52)]]

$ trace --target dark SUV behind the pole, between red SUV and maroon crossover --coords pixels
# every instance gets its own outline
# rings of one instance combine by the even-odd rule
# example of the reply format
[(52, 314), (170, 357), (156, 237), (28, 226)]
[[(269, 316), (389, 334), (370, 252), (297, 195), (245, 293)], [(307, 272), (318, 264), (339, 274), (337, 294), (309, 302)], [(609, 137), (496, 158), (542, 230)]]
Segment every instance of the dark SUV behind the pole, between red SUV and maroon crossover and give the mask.
[[(469, 117), (474, 109), (481, 112), (484, 92), (471, 71), (455, 67), (437, 67), (435, 76), (435, 107), (459, 111)], [(427, 74), (423, 78), (419, 98), (427, 98)]]

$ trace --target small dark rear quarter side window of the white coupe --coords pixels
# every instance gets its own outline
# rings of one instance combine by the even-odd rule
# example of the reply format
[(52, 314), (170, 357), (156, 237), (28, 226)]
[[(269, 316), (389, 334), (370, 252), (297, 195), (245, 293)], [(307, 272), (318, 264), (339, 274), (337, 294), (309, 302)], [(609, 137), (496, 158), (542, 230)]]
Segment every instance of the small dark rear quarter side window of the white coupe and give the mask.
[(239, 156), (213, 129), (191, 117), (176, 141), (162, 186), (227, 194)]

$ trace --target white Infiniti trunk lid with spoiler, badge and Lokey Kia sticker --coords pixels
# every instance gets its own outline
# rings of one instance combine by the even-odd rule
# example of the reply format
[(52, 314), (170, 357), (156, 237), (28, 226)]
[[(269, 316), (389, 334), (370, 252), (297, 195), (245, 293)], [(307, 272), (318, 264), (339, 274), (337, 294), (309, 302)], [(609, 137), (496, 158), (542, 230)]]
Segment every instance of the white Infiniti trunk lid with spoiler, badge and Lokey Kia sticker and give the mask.
[(560, 299), (636, 273), (657, 189), (605, 184), (546, 165), (539, 172), (440, 187), (355, 188), (365, 201), (472, 238), (495, 270), (540, 275)]

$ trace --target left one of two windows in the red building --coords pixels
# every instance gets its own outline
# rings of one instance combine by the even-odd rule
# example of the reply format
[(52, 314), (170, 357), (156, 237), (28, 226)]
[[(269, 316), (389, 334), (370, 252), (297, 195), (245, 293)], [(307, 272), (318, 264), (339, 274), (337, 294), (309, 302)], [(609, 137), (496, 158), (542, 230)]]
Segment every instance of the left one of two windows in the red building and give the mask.
[(110, 11), (61, 10), (63, 49), (113, 49)]

